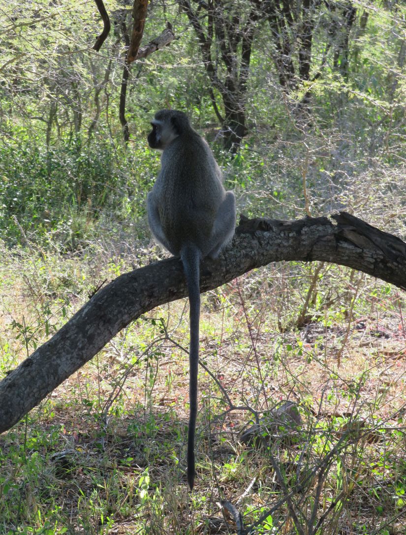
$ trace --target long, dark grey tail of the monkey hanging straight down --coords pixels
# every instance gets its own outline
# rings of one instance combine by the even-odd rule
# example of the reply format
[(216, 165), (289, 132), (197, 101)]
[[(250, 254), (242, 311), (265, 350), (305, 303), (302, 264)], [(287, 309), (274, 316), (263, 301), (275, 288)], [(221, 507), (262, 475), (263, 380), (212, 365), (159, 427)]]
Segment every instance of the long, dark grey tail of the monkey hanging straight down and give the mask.
[(182, 248), (180, 258), (185, 270), (189, 291), (189, 428), (187, 450), (187, 476), (190, 490), (195, 480), (195, 430), (197, 416), (197, 368), (199, 360), (199, 322), (200, 322), (200, 250), (188, 245)]

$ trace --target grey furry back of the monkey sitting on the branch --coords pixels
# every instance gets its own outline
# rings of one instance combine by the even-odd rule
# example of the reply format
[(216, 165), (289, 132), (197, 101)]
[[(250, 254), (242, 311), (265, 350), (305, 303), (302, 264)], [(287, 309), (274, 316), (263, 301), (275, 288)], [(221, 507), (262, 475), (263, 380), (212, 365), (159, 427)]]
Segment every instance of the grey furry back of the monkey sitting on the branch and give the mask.
[(204, 256), (225, 190), (216, 160), (200, 135), (193, 132), (187, 140), (179, 136), (164, 150), (154, 190), (172, 249), (179, 254), (183, 245), (193, 243)]

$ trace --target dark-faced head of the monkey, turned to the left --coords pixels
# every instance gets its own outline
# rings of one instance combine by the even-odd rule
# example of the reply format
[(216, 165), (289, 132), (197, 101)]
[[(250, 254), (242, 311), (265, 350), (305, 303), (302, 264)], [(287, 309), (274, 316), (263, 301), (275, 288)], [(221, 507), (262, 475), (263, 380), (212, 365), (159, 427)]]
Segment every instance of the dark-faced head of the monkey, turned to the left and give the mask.
[(164, 150), (174, 139), (192, 129), (187, 115), (177, 110), (157, 111), (151, 125), (148, 144), (151, 149), (159, 150)]

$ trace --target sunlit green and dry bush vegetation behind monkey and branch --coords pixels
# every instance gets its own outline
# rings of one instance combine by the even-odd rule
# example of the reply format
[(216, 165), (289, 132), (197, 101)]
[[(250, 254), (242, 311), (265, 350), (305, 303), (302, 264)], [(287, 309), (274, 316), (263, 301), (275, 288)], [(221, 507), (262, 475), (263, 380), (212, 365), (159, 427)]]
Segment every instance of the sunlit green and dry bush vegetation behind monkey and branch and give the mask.
[[(144, 207), (157, 109), (189, 113), (239, 212), (345, 208), (406, 238), (403, 2), (151, 2), (143, 42), (167, 21), (177, 40), (131, 65), (128, 143), (132, 6), (106, 8), (95, 52), (93, 3), (0, 0), (1, 378), (99, 284), (163, 256)], [(226, 533), (226, 499), (254, 533), (404, 535), (404, 294), (294, 263), (206, 294), (190, 496), (185, 306), (129, 326), (0, 438), (0, 533)], [(286, 400), (294, 429), (269, 415)]]

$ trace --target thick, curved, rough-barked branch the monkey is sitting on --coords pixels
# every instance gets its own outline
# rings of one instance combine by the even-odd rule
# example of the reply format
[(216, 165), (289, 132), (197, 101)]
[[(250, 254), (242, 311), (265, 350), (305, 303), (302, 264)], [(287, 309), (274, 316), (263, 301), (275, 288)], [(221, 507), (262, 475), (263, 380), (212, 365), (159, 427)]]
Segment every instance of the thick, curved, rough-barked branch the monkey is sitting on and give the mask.
[[(206, 292), (279, 261), (349, 266), (406, 289), (406, 243), (346, 212), (296, 221), (247, 219), (216, 261), (202, 263)], [(186, 297), (179, 259), (121, 275), (97, 292), (53, 337), (0, 383), (0, 433), (88, 362), (126, 325), (160, 304)]]

